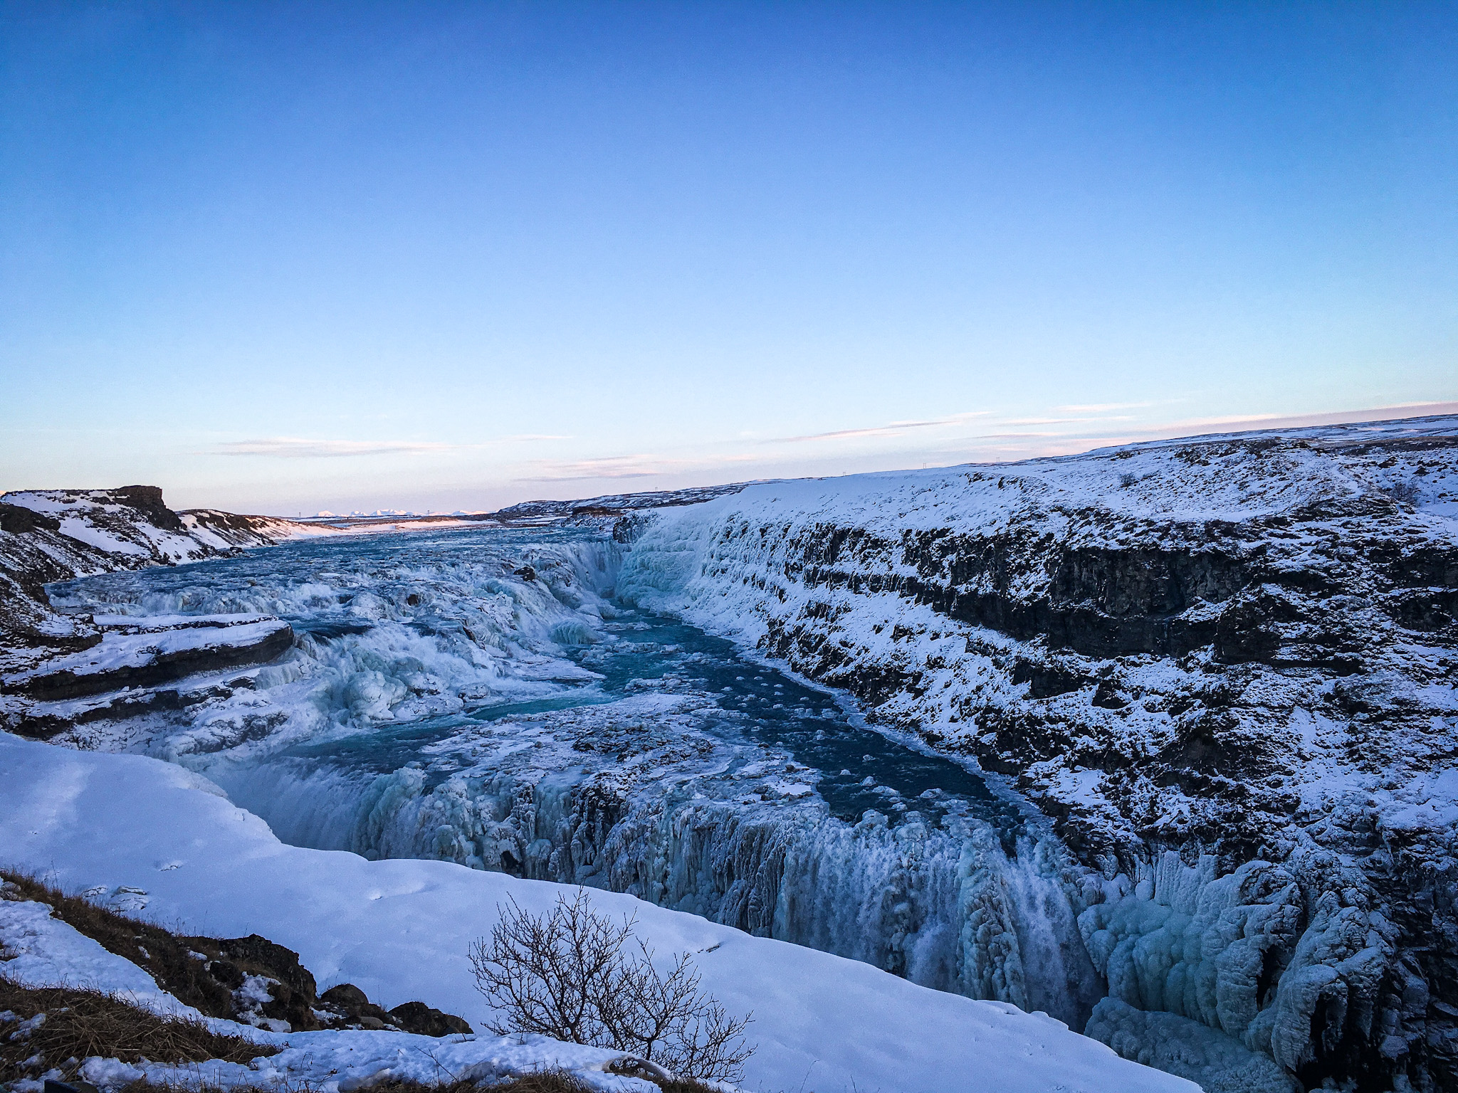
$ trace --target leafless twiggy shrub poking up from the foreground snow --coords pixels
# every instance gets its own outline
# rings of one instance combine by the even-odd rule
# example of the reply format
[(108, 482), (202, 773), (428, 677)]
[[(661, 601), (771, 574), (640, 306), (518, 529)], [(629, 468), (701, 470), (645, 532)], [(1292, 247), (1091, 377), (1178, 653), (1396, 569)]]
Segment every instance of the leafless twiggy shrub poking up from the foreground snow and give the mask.
[(687, 1078), (738, 1081), (754, 1048), (749, 1017), (730, 1017), (700, 990), (688, 953), (668, 971), (634, 934), (636, 918), (614, 922), (592, 909), (585, 889), (557, 896), (545, 915), (512, 901), (490, 939), (471, 946), (477, 990), (497, 1011), (499, 1035), (535, 1032), (573, 1043), (625, 1051)]

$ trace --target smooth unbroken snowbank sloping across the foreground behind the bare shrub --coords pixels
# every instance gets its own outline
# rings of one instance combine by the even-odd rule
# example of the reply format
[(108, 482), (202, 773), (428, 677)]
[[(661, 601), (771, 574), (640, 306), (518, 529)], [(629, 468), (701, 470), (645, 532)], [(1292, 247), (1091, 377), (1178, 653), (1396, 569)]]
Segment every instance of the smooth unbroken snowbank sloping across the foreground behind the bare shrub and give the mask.
[[(260, 933), (299, 952), (321, 987), (354, 982), (386, 1007), (421, 998), (475, 1027), (487, 1014), (465, 960), (469, 943), (490, 930), (507, 898), (544, 911), (567, 890), (449, 863), (289, 847), (201, 777), (144, 756), (0, 734), (0, 781), (10, 787), (0, 845), (17, 867), (73, 889), (146, 889), (147, 912), (159, 921), (216, 936)], [(1042, 1014), (926, 990), (631, 896), (590, 895), (605, 912), (637, 915), (660, 957), (694, 953), (704, 987), (730, 1013), (754, 1013), (760, 1049), (749, 1089), (1196, 1089)], [(391, 1033), (347, 1035), (378, 1045), (351, 1073), (388, 1058), (391, 1043), (404, 1046)], [(271, 1065), (286, 1062), (278, 1057)]]

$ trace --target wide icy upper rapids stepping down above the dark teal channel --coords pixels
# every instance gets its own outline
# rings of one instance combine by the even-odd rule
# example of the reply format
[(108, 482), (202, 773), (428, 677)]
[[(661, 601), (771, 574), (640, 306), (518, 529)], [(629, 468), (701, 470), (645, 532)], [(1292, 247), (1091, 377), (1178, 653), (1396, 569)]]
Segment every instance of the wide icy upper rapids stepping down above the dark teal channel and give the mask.
[[(523, 538), (451, 530), (421, 536), (416, 546), (398, 536), (335, 536), (249, 552), (226, 568), (152, 568), (85, 587), (52, 586), (51, 599), (67, 611), (95, 612), (106, 628), (102, 646), (69, 657), (82, 666), (114, 659), (104, 650), (121, 650), (121, 630), (293, 619), (295, 649), (255, 676), (255, 689), (194, 708), (194, 723), (181, 732), (149, 729), (171, 740), (169, 758), (214, 752), (229, 742), (274, 749), (340, 729), (445, 714), (467, 701), (532, 701), (595, 682), (566, 659), (558, 641), (590, 644), (602, 637), (604, 615), (612, 609), (599, 589), (617, 573), (618, 546), (580, 532), (557, 533), (551, 542), (537, 532), (535, 541)], [(516, 573), (523, 564), (534, 567), (535, 580)], [(239, 627), (156, 638), (222, 640), (233, 630)], [(47, 670), (58, 666), (50, 662)], [(70, 711), (45, 707), (36, 716)], [(252, 726), (265, 718), (276, 732), (257, 740)]]

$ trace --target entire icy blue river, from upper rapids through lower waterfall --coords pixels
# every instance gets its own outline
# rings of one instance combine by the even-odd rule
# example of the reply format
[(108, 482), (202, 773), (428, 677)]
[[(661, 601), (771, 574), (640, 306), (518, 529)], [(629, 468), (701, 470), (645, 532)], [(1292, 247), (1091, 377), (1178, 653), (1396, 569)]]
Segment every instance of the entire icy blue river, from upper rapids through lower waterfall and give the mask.
[(261, 611), (252, 686), (146, 724), (280, 838), (628, 890), (1082, 1027), (1102, 994), (1038, 818), (843, 697), (612, 596), (588, 530), (305, 541), (52, 587)]

